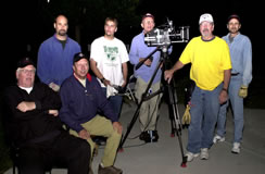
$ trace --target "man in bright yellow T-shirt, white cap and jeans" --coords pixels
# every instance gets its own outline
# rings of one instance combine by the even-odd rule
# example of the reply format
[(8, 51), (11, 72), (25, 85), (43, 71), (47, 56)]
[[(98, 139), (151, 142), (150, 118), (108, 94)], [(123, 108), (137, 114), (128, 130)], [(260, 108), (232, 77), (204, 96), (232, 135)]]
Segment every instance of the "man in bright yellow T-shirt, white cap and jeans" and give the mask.
[(188, 161), (192, 161), (200, 152), (202, 160), (209, 159), (219, 107), (228, 98), (231, 71), (227, 44), (213, 35), (213, 16), (202, 14), (199, 24), (201, 36), (190, 40), (179, 60), (164, 74), (169, 83), (174, 72), (191, 63), (190, 78), (194, 80), (195, 88), (191, 96), (191, 122), (186, 154)]

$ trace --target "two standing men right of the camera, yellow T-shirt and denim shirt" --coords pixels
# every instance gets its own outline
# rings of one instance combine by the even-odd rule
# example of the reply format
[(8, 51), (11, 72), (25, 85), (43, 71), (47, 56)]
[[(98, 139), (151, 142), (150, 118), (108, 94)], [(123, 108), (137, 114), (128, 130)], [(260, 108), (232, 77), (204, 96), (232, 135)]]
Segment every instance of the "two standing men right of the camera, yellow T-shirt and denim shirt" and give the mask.
[[(195, 83), (190, 101), (191, 122), (188, 129), (187, 159), (209, 159), (213, 144), (225, 140), (228, 101), (231, 102), (235, 133), (231, 152), (240, 153), (243, 132), (243, 98), (252, 79), (252, 47), (241, 35), (240, 17), (228, 17), (229, 34), (223, 39), (213, 34), (214, 20), (200, 16), (201, 36), (192, 38), (175, 65), (164, 73), (171, 82), (174, 72), (191, 63), (190, 78)], [(217, 123), (216, 135), (214, 136)]]

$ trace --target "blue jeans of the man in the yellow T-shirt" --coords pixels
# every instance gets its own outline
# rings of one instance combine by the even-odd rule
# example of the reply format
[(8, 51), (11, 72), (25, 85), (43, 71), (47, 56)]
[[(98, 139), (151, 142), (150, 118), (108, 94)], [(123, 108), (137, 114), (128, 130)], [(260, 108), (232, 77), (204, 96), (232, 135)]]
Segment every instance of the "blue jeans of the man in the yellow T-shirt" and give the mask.
[(202, 148), (210, 148), (213, 144), (214, 128), (219, 112), (219, 94), (223, 83), (214, 90), (203, 90), (195, 86), (191, 96), (191, 122), (187, 150), (199, 153)]

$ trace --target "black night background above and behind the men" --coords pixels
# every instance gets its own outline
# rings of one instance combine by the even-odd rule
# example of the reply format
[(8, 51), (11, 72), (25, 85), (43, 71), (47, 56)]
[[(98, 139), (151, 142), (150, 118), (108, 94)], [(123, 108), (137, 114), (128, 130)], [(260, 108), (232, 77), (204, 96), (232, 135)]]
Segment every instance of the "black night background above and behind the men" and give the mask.
[[(149, 12), (155, 16), (156, 26), (164, 24), (166, 17), (173, 21), (175, 27), (190, 26), (190, 38), (200, 35), (199, 17), (211, 13), (215, 22), (214, 34), (227, 35), (227, 17), (239, 14), (241, 33), (249, 36), (253, 51), (253, 82), (250, 87), (263, 92), (264, 58), (262, 53), (262, 2), (222, 0), (222, 1), (188, 1), (188, 0), (28, 0), (9, 1), (2, 4), (2, 33), (4, 40), (2, 58), (2, 84), (15, 82), (14, 71), (17, 59), (29, 55), (37, 62), (37, 51), (40, 44), (54, 34), (53, 18), (60, 13), (68, 17), (68, 36), (77, 40), (84, 52), (88, 45), (103, 35), (103, 24), (106, 16), (117, 17), (117, 38), (130, 45), (134, 36), (141, 32), (141, 15)], [(175, 63), (187, 44), (174, 44), (172, 62)], [(30, 48), (28, 48), (30, 46)], [(188, 69), (180, 71), (177, 76), (188, 76)], [(255, 83), (256, 82), (256, 83)], [(257, 85), (255, 85), (257, 84)], [(3, 87), (3, 86), (2, 86)], [(264, 92), (263, 92), (264, 94)], [(258, 94), (257, 94), (258, 95)]]

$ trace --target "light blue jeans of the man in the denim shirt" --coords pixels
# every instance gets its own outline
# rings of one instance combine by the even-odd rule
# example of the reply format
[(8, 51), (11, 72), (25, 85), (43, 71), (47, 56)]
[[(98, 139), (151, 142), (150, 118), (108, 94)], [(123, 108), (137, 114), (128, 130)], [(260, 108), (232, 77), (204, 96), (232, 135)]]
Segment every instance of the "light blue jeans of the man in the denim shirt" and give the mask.
[[(228, 95), (229, 101), (231, 102), (232, 113), (234, 113), (234, 142), (240, 142), (242, 139), (243, 132), (243, 98), (238, 96), (238, 91), (242, 85), (241, 76), (231, 76)], [(220, 107), (217, 122), (217, 135), (224, 137), (226, 134), (226, 114), (229, 103), (226, 102)]]

